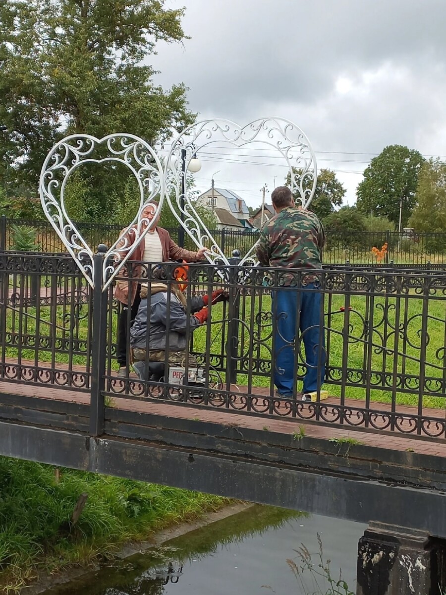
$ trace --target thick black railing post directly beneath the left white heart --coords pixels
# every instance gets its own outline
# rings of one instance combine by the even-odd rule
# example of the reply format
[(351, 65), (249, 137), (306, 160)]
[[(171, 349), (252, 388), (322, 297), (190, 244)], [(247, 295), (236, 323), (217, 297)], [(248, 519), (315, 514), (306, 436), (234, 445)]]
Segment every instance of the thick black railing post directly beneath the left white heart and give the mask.
[(90, 386), (90, 436), (103, 434), (105, 407), (105, 365), (107, 343), (107, 292), (103, 292), (102, 265), (107, 247), (98, 246), (93, 256), (95, 274), (93, 277), (93, 329), (92, 329), (92, 383)]

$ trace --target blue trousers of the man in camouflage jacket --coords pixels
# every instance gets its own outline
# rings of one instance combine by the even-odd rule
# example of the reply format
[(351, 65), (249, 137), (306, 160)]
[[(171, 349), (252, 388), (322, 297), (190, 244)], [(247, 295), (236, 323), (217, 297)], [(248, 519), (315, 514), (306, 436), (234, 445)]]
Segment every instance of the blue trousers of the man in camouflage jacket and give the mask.
[[(325, 380), (325, 332), (323, 330), (322, 293), (309, 283), (299, 291), (283, 289), (272, 295), (272, 316), (275, 336), (274, 384), (278, 392), (292, 396), (294, 388), (294, 367), (298, 354), (294, 352), (296, 324), (299, 318), (301, 340), (305, 346), (306, 374), (303, 379), (303, 393), (318, 390)], [(319, 344), (322, 343), (321, 353)], [(299, 343), (297, 343), (299, 345)], [(296, 346), (297, 346), (296, 345)]]

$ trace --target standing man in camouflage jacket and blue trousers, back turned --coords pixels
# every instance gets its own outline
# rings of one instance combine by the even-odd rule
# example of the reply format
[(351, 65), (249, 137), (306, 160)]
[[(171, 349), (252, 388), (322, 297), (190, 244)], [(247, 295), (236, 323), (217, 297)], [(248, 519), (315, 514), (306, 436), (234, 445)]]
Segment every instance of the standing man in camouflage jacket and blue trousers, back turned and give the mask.
[(257, 259), (263, 267), (290, 269), (278, 275), (283, 289), (272, 295), (274, 384), (281, 396), (296, 394), (299, 325), (306, 359), (302, 400), (311, 400), (309, 393), (318, 390), (325, 379), (322, 293), (316, 290), (325, 233), (314, 213), (294, 205), (286, 186), (276, 188), (271, 199), (277, 214), (260, 233)]

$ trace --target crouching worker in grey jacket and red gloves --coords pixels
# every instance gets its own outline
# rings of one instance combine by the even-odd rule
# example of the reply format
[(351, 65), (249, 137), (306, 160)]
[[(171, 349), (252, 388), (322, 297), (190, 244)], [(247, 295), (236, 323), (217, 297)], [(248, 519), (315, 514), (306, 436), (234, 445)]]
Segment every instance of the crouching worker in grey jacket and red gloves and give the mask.
[[(141, 303), (136, 318), (130, 328), (130, 346), (133, 353), (133, 367), (142, 380), (149, 380), (150, 367), (146, 369), (146, 362), (159, 362), (158, 368), (163, 370), (156, 377), (164, 375), (162, 364), (166, 361), (168, 350), (168, 364), (184, 368), (186, 362), (186, 348), (190, 334), (197, 327), (208, 320), (208, 294), (194, 296), (190, 300), (189, 324), (186, 314), (186, 296), (178, 285), (165, 282), (165, 272), (161, 267), (153, 271), (153, 280), (150, 284), (141, 286)], [(150, 292), (150, 296), (148, 295)], [(212, 302), (222, 302), (227, 299), (224, 290), (212, 292)], [(148, 333), (148, 337), (147, 337)], [(148, 347), (148, 353), (146, 350)], [(189, 367), (196, 368), (197, 361), (189, 355)], [(155, 379), (155, 378), (154, 378)]]

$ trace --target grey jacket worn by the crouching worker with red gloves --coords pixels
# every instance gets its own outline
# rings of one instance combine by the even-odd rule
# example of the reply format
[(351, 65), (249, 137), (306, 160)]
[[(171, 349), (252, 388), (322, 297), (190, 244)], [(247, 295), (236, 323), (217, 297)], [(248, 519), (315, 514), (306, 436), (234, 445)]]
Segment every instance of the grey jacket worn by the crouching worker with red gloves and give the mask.
[[(131, 325), (130, 346), (147, 349), (148, 330), (149, 349), (168, 349), (169, 351), (186, 350), (186, 332), (187, 330), (189, 332), (194, 331), (200, 325), (200, 322), (197, 318), (191, 316), (188, 329), (186, 308), (184, 308), (174, 293), (168, 293), (167, 291), (158, 292), (149, 296), (149, 298), (150, 302), (147, 297), (141, 300), (138, 313)], [(203, 306), (203, 297), (196, 296), (191, 298), (191, 312), (197, 312)], [(150, 308), (150, 312), (147, 314), (148, 307)], [(147, 318), (149, 320), (148, 329)]]

